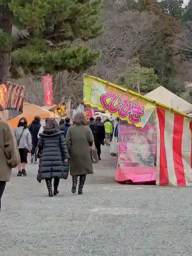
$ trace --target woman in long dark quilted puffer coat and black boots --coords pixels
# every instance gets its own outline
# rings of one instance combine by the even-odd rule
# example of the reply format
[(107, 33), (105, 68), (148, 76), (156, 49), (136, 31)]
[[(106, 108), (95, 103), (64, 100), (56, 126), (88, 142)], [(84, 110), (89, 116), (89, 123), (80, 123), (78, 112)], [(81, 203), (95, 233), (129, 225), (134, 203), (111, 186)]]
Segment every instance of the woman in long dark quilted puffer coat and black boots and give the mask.
[[(49, 119), (38, 140), (39, 169), (37, 180), (46, 180), (49, 197), (56, 196), (59, 179), (67, 179), (69, 173), (69, 153), (64, 132), (59, 130), (55, 119)], [(54, 192), (52, 179), (54, 178)]]

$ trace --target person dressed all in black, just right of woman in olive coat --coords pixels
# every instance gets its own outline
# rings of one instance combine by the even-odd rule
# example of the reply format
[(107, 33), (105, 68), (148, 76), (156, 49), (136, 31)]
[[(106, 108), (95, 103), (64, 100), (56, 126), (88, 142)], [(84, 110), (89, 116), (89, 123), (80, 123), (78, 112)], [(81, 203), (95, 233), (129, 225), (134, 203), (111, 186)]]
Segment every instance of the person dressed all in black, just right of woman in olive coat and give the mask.
[(104, 125), (101, 123), (101, 118), (99, 116), (96, 117), (95, 122), (90, 124), (90, 129), (94, 136), (95, 147), (97, 148), (99, 160), (101, 160), (101, 144), (104, 145), (105, 131)]

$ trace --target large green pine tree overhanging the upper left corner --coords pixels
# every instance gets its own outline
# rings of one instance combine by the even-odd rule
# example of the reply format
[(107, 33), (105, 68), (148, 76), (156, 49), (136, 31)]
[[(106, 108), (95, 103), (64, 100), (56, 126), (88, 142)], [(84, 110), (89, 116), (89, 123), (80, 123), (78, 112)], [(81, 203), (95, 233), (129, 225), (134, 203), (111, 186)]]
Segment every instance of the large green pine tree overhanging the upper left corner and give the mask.
[(78, 72), (94, 65), (100, 53), (79, 41), (101, 33), (100, 11), (101, 0), (0, 0), (0, 82), (9, 71)]

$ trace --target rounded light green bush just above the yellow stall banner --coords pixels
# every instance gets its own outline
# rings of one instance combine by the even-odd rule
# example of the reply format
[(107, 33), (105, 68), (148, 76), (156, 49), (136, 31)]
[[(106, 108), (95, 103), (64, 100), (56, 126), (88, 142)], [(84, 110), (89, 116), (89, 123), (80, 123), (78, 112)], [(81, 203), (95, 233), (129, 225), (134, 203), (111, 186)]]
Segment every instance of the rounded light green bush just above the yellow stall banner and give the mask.
[(137, 87), (139, 85), (140, 93), (142, 94), (151, 92), (159, 86), (157, 76), (152, 68), (141, 67), (138, 63), (131, 68), (132, 71), (130, 73), (125, 73), (120, 77), (119, 83), (121, 86), (138, 91)]

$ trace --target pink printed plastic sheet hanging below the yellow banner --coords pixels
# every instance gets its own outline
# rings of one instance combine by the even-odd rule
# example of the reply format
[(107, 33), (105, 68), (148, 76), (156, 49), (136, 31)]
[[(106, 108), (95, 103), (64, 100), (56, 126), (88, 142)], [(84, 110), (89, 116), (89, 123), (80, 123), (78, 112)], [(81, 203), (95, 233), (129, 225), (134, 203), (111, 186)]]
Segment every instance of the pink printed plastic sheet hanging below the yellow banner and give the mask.
[(156, 181), (156, 125), (152, 115), (145, 126), (119, 121), (117, 181)]

